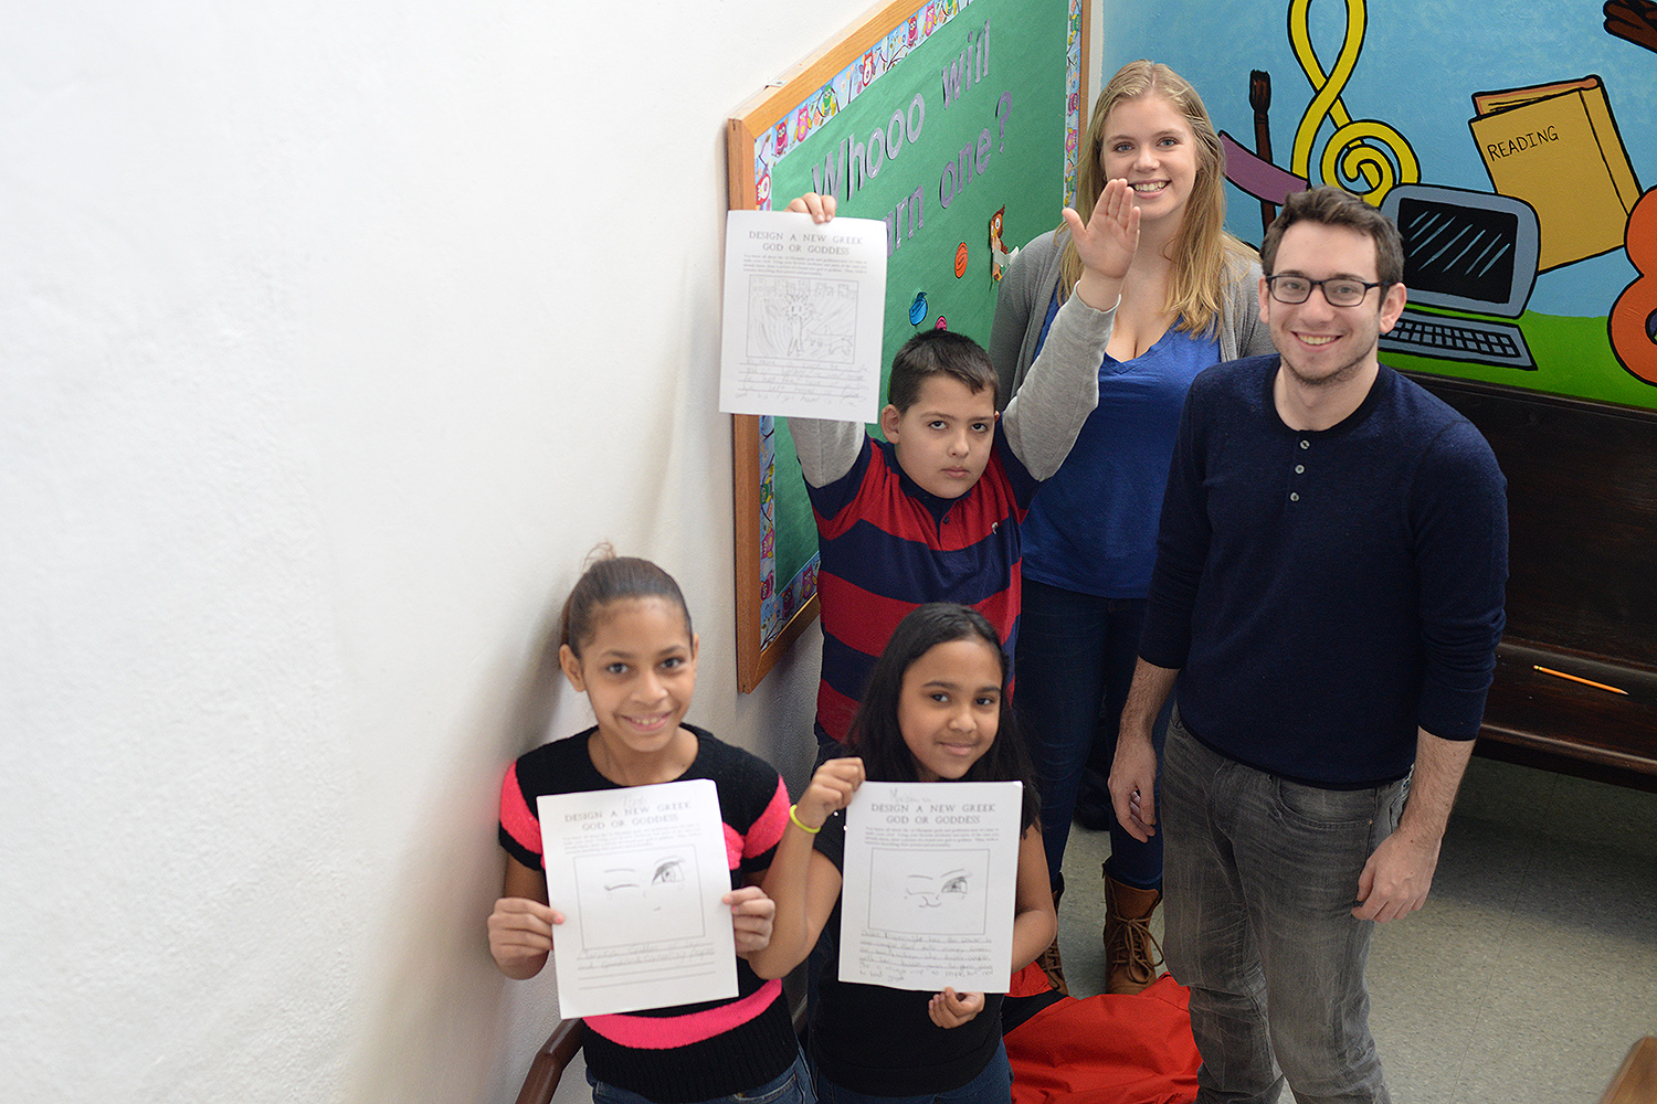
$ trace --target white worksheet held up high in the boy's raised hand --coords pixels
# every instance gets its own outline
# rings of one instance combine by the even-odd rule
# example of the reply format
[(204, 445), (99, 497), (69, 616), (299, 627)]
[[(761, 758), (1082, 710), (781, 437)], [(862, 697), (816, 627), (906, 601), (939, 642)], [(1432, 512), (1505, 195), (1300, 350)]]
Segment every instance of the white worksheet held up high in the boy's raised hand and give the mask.
[(732, 210), (719, 409), (873, 422), (885, 295), (885, 222)]

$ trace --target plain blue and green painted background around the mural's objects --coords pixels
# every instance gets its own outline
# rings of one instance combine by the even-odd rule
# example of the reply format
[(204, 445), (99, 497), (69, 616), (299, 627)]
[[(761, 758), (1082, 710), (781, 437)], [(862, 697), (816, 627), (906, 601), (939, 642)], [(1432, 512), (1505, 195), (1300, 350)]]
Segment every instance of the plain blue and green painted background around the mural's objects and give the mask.
[[(1165, 61), (1201, 91), (1215, 126), (1254, 147), (1254, 113), (1248, 103), (1249, 70), (1271, 73), (1273, 161), (1289, 167), (1291, 146), (1314, 88), (1294, 55), (1287, 0), (1211, 3), (1167, 0), (1158, 5), (1095, 0), (1104, 35), (1094, 55), (1109, 78), (1133, 58)], [(1488, 192), (1468, 119), (1471, 94), (1599, 74), (1611, 111), (1642, 189), (1657, 185), (1657, 53), (1606, 31), (1599, 0), (1566, 3), (1490, 3), (1471, 0), (1354, 3), (1367, 26), (1357, 68), (1341, 98), (1354, 119), (1379, 119), (1403, 134), (1420, 161), (1422, 184)], [(1322, 68), (1334, 66), (1349, 26), (1345, 0), (1316, 0), (1307, 12), (1311, 41)], [(1102, 83), (1102, 81), (1100, 81)], [(1312, 147), (1317, 162), (1334, 124), (1322, 121)], [(1559, 187), (1569, 189), (1571, 180)], [(1259, 242), (1259, 200), (1228, 185), (1228, 228)], [(1501, 369), (1428, 361), (1428, 369), (1518, 382), (1544, 391), (1587, 394), (1616, 402), (1657, 406), (1657, 387), (1622, 369), (1604, 339), (1604, 318), (1617, 295), (1637, 276), (1617, 250), (1541, 273), (1529, 311), (1601, 319), (1606, 364), (1561, 381), (1549, 372), (1514, 379)], [(1586, 333), (1586, 331), (1584, 331)], [(1415, 358), (1387, 358), (1413, 361)], [(1418, 364), (1399, 364), (1420, 367)]]

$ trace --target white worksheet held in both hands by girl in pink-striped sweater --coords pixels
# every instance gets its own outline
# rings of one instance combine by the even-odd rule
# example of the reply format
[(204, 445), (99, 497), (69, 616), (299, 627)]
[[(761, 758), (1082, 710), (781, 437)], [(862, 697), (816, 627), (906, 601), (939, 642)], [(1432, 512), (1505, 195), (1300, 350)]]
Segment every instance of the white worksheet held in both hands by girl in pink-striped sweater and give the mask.
[(719, 793), (708, 778), (539, 799), (558, 1013), (736, 996)]

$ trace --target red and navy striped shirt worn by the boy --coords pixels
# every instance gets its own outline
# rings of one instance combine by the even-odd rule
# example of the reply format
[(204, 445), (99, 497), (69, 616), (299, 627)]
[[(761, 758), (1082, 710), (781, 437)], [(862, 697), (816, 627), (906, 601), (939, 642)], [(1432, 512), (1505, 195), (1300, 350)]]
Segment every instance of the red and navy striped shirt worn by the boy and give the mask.
[(817, 738), (845, 742), (868, 672), (898, 622), (925, 602), (978, 609), (1012, 655), (1019, 631), (1019, 523), (1041, 483), (996, 420), (989, 465), (959, 498), (940, 498), (903, 473), (893, 447), (863, 435), (852, 470), (805, 490), (822, 561), (817, 598), (824, 665)]

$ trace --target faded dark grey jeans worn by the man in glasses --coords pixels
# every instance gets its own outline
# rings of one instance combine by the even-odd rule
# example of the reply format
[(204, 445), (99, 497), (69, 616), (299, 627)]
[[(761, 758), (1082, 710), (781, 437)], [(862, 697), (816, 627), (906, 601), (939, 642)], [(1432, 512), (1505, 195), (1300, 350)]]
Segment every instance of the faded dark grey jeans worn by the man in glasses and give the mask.
[[(1374, 1101), (1372, 920), (1364, 864), (1399, 824), (1408, 780), (1302, 786), (1205, 748), (1175, 713), (1162, 766), (1168, 970), (1191, 990), (1200, 1104)], [(1279, 1073), (1281, 1069), (1281, 1073)]]

